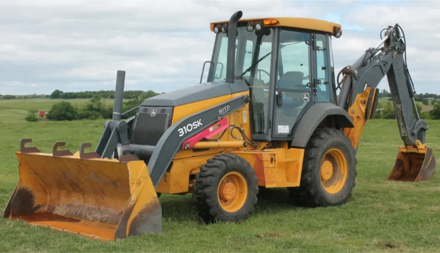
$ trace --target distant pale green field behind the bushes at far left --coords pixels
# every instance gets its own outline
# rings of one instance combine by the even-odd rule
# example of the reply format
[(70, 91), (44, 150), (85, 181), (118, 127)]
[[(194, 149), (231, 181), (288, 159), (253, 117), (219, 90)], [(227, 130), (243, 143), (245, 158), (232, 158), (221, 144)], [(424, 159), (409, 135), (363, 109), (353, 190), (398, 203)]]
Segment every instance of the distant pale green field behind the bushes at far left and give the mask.
[[(50, 99), (50, 98), (26, 98), (26, 99), (0, 99), (0, 122), (25, 121), (29, 110), (46, 111), (52, 108), (54, 103), (68, 101), (80, 106), (90, 99)], [(102, 99), (106, 104), (113, 103), (113, 99)]]

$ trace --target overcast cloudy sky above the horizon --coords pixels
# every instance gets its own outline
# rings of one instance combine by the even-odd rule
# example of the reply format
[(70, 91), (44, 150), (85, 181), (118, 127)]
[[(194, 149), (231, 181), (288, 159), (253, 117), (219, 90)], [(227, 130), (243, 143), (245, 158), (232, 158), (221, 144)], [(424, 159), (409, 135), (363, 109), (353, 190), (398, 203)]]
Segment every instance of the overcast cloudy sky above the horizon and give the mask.
[[(126, 71), (126, 90), (167, 92), (199, 83), (214, 33), (209, 23), (298, 16), (342, 25), (335, 67), (355, 61), (399, 23), (417, 93), (440, 93), (438, 0), (2, 0), (0, 94), (112, 90)], [(380, 88), (387, 88), (387, 82)]]

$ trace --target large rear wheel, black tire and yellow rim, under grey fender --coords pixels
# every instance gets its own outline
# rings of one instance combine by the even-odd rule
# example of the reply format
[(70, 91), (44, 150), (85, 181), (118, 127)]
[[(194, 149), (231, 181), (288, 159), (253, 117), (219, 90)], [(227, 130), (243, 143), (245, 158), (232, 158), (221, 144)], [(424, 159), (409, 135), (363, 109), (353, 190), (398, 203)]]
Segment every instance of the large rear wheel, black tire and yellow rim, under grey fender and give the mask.
[(355, 187), (356, 152), (343, 132), (315, 130), (305, 147), (299, 187), (290, 187), (296, 204), (309, 207), (345, 204)]

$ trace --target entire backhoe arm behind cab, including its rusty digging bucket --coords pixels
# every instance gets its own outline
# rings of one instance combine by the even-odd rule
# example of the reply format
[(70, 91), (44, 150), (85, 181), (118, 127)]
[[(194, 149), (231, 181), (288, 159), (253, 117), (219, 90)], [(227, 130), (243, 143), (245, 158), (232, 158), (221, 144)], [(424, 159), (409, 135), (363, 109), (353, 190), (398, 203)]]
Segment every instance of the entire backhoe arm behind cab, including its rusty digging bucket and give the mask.
[(428, 124), (420, 118), (413, 97), (414, 86), (406, 63), (405, 35), (399, 24), (384, 30), (384, 37), (376, 47), (369, 48), (353, 65), (341, 70), (344, 77), (338, 105), (347, 110), (355, 125), (344, 132), (357, 150), (365, 123), (373, 118), (377, 107), (377, 86), (386, 76), (400, 136), (404, 142), (388, 179), (428, 180), (435, 171), (435, 158), (425, 144)]

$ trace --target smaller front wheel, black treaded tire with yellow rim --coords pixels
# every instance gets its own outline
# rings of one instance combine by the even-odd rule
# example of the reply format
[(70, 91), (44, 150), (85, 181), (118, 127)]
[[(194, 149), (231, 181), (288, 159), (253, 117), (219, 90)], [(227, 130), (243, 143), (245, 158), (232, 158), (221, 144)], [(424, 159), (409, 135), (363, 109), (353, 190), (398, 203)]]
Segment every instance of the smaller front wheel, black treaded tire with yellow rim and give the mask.
[(254, 168), (234, 154), (207, 160), (195, 175), (192, 199), (205, 223), (238, 222), (249, 218), (257, 203)]

